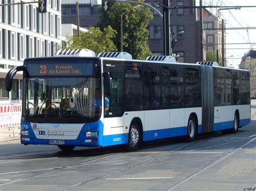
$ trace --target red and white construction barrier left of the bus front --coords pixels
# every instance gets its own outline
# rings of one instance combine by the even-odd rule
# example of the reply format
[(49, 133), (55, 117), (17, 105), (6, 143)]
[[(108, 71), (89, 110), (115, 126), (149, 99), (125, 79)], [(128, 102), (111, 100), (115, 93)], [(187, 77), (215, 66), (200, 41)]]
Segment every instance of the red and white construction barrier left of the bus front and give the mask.
[(0, 104), (0, 128), (21, 125), (21, 104)]

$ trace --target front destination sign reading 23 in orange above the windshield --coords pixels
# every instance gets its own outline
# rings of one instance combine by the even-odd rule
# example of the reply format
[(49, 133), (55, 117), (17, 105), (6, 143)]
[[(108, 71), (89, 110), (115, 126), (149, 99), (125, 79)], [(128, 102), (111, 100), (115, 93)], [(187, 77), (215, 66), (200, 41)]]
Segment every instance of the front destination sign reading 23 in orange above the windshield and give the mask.
[[(95, 68), (96, 67), (96, 68)], [(97, 65), (88, 63), (26, 63), (30, 76), (92, 76)]]

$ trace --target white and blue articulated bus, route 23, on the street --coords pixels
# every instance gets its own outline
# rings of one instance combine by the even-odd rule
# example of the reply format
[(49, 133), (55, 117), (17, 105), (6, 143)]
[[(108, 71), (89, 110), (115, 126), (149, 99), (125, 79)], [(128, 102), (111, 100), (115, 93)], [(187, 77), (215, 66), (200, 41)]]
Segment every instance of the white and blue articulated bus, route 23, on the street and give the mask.
[(10, 91), (14, 75), (23, 71), (24, 145), (70, 151), (123, 144), (131, 151), (147, 140), (235, 133), (251, 121), (247, 70), (177, 63), (171, 56), (95, 56), (89, 49), (57, 54), (25, 59), (6, 75)]

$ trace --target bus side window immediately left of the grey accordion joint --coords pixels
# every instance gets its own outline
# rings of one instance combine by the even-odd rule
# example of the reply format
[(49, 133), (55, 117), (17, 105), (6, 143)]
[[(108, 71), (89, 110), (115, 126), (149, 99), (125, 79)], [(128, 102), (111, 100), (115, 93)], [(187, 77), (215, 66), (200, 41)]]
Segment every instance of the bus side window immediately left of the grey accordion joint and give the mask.
[(201, 77), (196, 67), (187, 67), (185, 76), (185, 107), (201, 107)]

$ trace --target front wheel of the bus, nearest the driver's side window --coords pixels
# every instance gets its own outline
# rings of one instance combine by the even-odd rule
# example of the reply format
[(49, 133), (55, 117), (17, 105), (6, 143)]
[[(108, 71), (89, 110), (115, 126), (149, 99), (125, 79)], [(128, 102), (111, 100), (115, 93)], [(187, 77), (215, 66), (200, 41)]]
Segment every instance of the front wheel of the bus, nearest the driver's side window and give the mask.
[(126, 151), (134, 151), (139, 147), (139, 143), (142, 139), (142, 135), (140, 133), (139, 125), (137, 122), (132, 122), (130, 130), (129, 130), (129, 140), (125, 145)]

